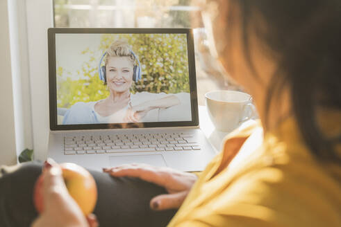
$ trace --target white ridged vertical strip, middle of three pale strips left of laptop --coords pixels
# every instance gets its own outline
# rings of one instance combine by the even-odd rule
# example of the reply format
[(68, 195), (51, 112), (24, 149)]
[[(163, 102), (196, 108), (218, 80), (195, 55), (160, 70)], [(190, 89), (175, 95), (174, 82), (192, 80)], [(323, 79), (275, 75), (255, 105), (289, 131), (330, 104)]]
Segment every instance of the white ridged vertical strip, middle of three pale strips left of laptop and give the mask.
[(25, 2), (8, 1), (17, 156), (24, 149), (33, 148)]

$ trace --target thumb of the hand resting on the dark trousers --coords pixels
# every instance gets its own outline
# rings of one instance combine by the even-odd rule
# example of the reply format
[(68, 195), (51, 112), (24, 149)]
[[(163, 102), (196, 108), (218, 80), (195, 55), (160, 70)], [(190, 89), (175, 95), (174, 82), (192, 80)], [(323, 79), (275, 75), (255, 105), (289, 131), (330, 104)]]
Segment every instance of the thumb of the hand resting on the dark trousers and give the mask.
[(169, 210), (180, 208), (185, 200), (188, 191), (178, 192), (175, 194), (160, 194), (150, 201), (150, 207), (153, 210)]

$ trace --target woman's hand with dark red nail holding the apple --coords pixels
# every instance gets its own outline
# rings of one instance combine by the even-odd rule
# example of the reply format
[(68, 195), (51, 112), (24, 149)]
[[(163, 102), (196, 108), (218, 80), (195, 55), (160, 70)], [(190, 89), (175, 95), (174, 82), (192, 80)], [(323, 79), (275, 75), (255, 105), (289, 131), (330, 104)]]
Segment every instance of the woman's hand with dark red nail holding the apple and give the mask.
[(85, 217), (78, 204), (67, 192), (62, 170), (49, 160), (44, 165), (44, 212), (32, 227), (98, 226), (96, 216)]

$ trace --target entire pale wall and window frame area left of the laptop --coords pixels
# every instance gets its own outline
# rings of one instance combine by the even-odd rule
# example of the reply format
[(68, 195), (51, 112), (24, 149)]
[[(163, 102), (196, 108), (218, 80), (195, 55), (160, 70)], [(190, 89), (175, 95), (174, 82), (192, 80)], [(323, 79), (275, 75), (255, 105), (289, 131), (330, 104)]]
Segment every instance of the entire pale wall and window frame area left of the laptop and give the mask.
[(0, 0), (0, 165), (17, 163), (25, 148), (46, 158), (52, 10), (52, 0)]

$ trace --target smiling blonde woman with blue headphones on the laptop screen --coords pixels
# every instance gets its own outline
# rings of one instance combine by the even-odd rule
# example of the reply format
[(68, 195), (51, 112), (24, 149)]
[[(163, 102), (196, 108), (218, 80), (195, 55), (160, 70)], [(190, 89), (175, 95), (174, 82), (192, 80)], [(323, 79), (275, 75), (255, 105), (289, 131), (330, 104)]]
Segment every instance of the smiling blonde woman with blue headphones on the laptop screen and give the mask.
[[(101, 66), (103, 59), (105, 66)], [(97, 102), (77, 102), (66, 112), (63, 125), (141, 122), (149, 112), (154, 111), (151, 115), (157, 116), (155, 111), (158, 109), (181, 103), (176, 95), (131, 93), (133, 83), (142, 78), (142, 71), (138, 57), (124, 40), (113, 42), (101, 57), (99, 78), (106, 84), (110, 95)]]

